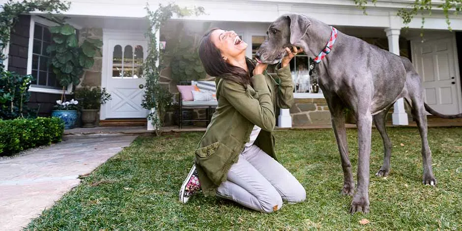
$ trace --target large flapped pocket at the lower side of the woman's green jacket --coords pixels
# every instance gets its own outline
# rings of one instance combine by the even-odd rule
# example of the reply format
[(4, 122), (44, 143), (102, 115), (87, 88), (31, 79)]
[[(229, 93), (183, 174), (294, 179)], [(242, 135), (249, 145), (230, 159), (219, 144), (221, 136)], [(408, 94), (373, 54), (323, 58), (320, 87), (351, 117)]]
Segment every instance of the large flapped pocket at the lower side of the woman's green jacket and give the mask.
[(226, 167), (230, 164), (231, 149), (225, 144), (215, 142), (196, 149), (195, 154), (196, 164), (215, 185), (220, 185), (226, 178), (225, 171), (228, 170)]

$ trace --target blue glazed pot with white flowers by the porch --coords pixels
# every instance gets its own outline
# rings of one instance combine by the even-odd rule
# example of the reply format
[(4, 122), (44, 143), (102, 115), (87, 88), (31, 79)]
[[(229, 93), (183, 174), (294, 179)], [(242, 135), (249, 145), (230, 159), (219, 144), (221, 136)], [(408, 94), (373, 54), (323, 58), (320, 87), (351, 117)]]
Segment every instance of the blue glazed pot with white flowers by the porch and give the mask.
[(62, 102), (56, 101), (52, 112), (53, 117), (58, 117), (64, 121), (64, 129), (71, 129), (75, 127), (75, 123), (79, 115), (77, 114), (79, 101), (71, 99), (70, 101)]

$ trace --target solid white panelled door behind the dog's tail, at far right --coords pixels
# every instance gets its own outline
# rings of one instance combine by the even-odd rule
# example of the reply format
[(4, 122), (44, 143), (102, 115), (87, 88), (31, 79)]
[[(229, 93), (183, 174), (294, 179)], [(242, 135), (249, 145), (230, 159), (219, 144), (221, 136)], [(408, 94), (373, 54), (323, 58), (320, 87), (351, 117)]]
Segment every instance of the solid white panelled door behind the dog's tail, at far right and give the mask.
[(437, 112), (458, 114), (459, 76), (453, 38), (413, 43), (412, 61), (422, 78), (425, 102)]

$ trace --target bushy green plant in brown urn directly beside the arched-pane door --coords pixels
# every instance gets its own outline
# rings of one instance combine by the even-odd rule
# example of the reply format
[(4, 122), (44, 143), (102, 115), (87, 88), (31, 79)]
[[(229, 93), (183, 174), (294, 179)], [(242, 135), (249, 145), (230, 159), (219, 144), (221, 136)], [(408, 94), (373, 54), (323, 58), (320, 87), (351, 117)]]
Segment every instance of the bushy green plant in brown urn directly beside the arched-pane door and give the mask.
[(111, 94), (99, 87), (81, 87), (75, 90), (75, 97), (82, 108), (82, 127), (96, 127), (98, 111), (102, 104), (111, 100)]

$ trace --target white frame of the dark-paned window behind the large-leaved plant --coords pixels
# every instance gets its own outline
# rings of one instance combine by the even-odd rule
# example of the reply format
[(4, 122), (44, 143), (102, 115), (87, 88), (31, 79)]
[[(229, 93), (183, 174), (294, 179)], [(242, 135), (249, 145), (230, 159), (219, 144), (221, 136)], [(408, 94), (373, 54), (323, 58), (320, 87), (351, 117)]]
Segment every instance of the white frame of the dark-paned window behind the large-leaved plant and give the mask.
[[(27, 74), (32, 74), (32, 52), (33, 52), (33, 42), (34, 42), (34, 29), (35, 23), (42, 24), (47, 27), (55, 27), (58, 26), (57, 23), (46, 20), (44, 18), (38, 17), (36, 15), (30, 16), (30, 27), (29, 27), (29, 50), (28, 50), (28, 60), (27, 60)], [(76, 29), (82, 29), (76, 25), (72, 25)], [(30, 86), (29, 91), (31, 92), (41, 92), (41, 93), (51, 93), (51, 94), (62, 94), (62, 90), (60, 89), (50, 89), (45, 87), (36, 87)], [(67, 89), (64, 91), (65, 94), (72, 93), (72, 84), (67, 86)]]

